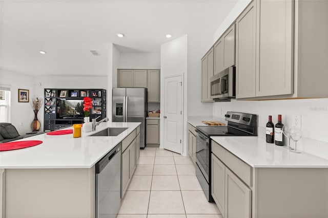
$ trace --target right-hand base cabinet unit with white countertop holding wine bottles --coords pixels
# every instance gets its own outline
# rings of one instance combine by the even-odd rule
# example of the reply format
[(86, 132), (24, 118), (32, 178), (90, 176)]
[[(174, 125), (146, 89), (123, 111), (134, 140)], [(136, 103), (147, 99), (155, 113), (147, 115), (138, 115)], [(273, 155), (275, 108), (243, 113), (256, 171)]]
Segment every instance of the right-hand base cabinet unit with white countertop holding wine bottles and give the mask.
[(212, 196), (227, 217), (328, 217), (328, 160), (260, 137), (211, 137)]

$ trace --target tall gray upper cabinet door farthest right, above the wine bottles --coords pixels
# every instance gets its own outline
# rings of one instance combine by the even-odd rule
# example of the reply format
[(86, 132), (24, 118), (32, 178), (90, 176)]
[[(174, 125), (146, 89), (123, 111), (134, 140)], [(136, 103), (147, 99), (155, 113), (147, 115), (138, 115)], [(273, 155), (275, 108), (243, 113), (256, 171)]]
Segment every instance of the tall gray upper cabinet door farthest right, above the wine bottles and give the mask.
[(256, 96), (293, 93), (293, 1), (257, 5)]

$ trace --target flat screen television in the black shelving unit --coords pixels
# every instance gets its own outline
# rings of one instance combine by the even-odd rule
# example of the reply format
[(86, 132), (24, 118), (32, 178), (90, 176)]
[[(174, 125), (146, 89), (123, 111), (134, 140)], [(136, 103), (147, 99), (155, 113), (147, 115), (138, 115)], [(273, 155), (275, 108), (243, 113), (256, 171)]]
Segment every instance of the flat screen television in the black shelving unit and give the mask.
[(84, 117), (83, 100), (60, 99), (59, 117)]

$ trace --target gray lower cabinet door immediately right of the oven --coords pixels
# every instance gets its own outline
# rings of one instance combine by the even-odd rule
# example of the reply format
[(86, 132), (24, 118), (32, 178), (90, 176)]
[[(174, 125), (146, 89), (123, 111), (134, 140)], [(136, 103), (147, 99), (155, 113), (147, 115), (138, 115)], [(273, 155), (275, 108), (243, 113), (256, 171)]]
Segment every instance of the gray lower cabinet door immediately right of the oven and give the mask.
[(226, 201), (224, 195), (224, 184), (226, 183), (226, 166), (215, 156), (212, 154), (212, 197), (221, 211), (224, 214), (224, 202)]

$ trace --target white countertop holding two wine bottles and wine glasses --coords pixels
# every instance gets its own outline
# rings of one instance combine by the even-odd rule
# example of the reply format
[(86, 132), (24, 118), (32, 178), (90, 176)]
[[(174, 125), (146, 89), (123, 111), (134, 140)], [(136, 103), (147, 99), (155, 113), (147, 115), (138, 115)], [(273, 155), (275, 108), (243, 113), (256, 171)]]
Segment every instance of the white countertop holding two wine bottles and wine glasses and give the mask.
[(211, 137), (252, 167), (328, 168), (328, 160), (306, 152), (296, 154), (259, 137)]

